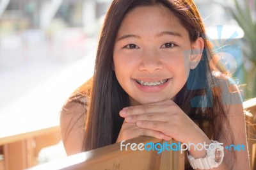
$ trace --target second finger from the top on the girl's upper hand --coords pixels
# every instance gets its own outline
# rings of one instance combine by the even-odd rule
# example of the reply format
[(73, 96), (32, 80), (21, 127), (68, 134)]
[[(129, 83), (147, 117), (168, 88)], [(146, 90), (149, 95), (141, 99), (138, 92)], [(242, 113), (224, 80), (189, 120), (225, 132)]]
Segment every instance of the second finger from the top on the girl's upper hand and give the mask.
[(134, 115), (134, 116), (126, 116), (125, 122), (127, 123), (136, 123), (136, 121), (168, 121), (170, 120), (170, 115), (166, 112), (159, 113), (159, 112), (153, 112), (153, 113), (147, 113), (147, 114), (140, 114), (140, 115)]

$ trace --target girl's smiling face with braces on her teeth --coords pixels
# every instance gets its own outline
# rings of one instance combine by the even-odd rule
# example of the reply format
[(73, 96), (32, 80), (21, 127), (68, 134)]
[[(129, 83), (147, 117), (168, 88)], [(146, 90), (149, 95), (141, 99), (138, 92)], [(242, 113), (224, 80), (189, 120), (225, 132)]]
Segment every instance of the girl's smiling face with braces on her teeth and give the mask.
[(202, 48), (197, 41), (190, 42), (188, 31), (164, 6), (127, 13), (116, 36), (113, 70), (131, 105), (173, 99), (195, 68), (191, 61), (200, 61), (191, 55)]

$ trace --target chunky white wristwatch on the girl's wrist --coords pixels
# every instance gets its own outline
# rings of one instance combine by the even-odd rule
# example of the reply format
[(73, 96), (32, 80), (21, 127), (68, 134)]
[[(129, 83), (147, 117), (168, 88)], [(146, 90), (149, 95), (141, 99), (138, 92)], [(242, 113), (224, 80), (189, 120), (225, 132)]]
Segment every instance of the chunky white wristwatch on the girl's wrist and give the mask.
[(188, 154), (188, 160), (193, 169), (212, 169), (220, 166), (224, 157), (224, 148), (218, 141), (212, 141), (207, 149), (207, 155), (204, 158), (194, 158)]

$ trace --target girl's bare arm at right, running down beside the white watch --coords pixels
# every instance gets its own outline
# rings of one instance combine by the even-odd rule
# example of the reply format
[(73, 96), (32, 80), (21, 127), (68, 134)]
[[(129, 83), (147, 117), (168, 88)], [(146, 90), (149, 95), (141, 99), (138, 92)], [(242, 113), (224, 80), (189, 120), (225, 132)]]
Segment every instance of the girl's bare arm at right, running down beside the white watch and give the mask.
[[(232, 153), (234, 153), (234, 147), (225, 149), (225, 157), (223, 161), (228, 165), (229, 169), (250, 169), (250, 162), (248, 157), (248, 145), (246, 140), (246, 123), (245, 115), (243, 111), (243, 102), (241, 101), (239, 89), (235, 84), (228, 84), (225, 81), (220, 83), (223, 92), (223, 100), (226, 102), (224, 107), (227, 111), (227, 118), (230, 125), (230, 130), (225, 125), (223, 128), (225, 131), (221, 134), (220, 141), (224, 143), (224, 147), (228, 145), (225, 134), (233, 132), (234, 134), (234, 145), (241, 145), (241, 150), (236, 151), (236, 159), (234, 164), (230, 162)], [(226, 145), (225, 145), (226, 143)], [(239, 149), (239, 148), (238, 148)], [(231, 151), (230, 151), (231, 150)]]

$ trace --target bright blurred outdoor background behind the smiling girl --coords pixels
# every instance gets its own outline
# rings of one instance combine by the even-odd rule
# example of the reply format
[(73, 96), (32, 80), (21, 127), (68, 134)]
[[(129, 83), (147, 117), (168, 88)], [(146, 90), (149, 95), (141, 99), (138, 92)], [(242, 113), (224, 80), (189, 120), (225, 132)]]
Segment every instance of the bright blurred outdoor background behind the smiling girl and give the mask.
[[(216, 53), (231, 54), (221, 62), (236, 84), (243, 85), (243, 99), (256, 97), (255, 0), (195, 3)], [(65, 100), (93, 74), (109, 4), (110, 0), (0, 1), (0, 140), (58, 126)], [(42, 149), (38, 163), (61, 157), (65, 151), (60, 142)]]

